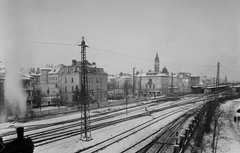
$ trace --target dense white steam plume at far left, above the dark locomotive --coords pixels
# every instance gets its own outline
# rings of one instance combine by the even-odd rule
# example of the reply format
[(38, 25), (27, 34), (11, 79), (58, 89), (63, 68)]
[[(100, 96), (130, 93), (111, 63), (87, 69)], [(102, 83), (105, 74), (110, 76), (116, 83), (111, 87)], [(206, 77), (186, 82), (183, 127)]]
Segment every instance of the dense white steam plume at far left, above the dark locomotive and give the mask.
[[(17, 47), (16, 47), (17, 46)], [(27, 93), (23, 89), (23, 74), (20, 68), (24, 62), (27, 62), (26, 57), (30, 54), (24, 53), (25, 45), (15, 42), (7, 46), (8, 52), (5, 54), (4, 63), (6, 67), (4, 81), (4, 96), (7, 106), (7, 115), (20, 117), (25, 116), (27, 105)]]

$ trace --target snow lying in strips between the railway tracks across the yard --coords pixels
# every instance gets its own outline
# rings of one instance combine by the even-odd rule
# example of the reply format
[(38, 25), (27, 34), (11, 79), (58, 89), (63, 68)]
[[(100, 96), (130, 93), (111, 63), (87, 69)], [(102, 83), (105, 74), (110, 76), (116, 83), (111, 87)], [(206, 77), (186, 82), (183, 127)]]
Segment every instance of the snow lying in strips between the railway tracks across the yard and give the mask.
[[(162, 103), (161, 105), (151, 106), (151, 107), (148, 107), (148, 105), (152, 104), (151, 100), (146, 101), (146, 102), (141, 102), (141, 103), (148, 103), (148, 105), (143, 106), (142, 109), (140, 109), (138, 111), (129, 113), (128, 116), (144, 112), (145, 107), (148, 107), (148, 111), (149, 111), (149, 110), (158, 109), (160, 106), (161, 107), (166, 107), (166, 105), (172, 105), (172, 104), (176, 104), (176, 103), (184, 103), (184, 102), (189, 101), (190, 99), (192, 99), (192, 98), (186, 98), (185, 100), (181, 100), (181, 101), (173, 101), (173, 102)], [(130, 107), (130, 106), (140, 105), (141, 103), (132, 103), (132, 104), (129, 104), (128, 106)], [(199, 103), (199, 104), (201, 104), (201, 103)], [(122, 108), (122, 107), (124, 107), (124, 106), (114, 106), (114, 107), (110, 107), (110, 108), (109, 107), (108, 108), (100, 108), (97, 111), (96, 110), (91, 111), (91, 114), (93, 115), (93, 114), (98, 114), (98, 113), (101, 113), (101, 112), (116, 110), (116, 109), (119, 109), (119, 108)], [(166, 125), (167, 123), (169, 123), (170, 121), (172, 121), (173, 119), (175, 119), (176, 117), (178, 117), (179, 115), (181, 115), (182, 113), (187, 111), (187, 110), (184, 109), (184, 107), (185, 106), (183, 106), (182, 112), (176, 113), (175, 115), (172, 115), (171, 117), (166, 118), (166, 119), (162, 120), (161, 122), (153, 124), (149, 128), (146, 128), (143, 131), (138, 132), (138, 134), (136, 133), (133, 136), (127, 138), (126, 141), (125, 140), (120, 141), (119, 143), (117, 143), (115, 145), (112, 145), (111, 147), (109, 147), (110, 149), (107, 148), (103, 152), (119, 152), (121, 149), (123, 149), (122, 146), (125, 146), (125, 148), (129, 147), (131, 144), (135, 143), (136, 140), (140, 140), (141, 138), (146, 137), (150, 133), (153, 133), (154, 131), (158, 130), (162, 126)], [(135, 109), (135, 108), (132, 108), (132, 109)], [(174, 108), (174, 109), (176, 109), (176, 108)], [(131, 109), (129, 109), (129, 111), (130, 110)], [(172, 111), (172, 110), (170, 110), (170, 111)], [(87, 146), (91, 146), (91, 145), (96, 144), (100, 141), (103, 141), (104, 139), (111, 138), (112, 136), (114, 136), (116, 134), (119, 134), (123, 131), (126, 131), (127, 129), (129, 129), (131, 127), (134, 127), (134, 126), (137, 126), (137, 125), (139, 125), (139, 124), (141, 124), (145, 121), (153, 120), (154, 117), (161, 115), (161, 113), (162, 112), (154, 113), (152, 116), (144, 116), (144, 117), (134, 119), (134, 120), (131, 120), (131, 121), (127, 121), (127, 122), (124, 122), (124, 123), (119, 123), (119, 124), (116, 124), (116, 125), (113, 125), (113, 126), (109, 126), (109, 127), (97, 130), (97, 131), (92, 131), (93, 140), (89, 141), (89, 142), (82, 142), (82, 141), (79, 140), (80, 136), (74, 136), (74, 137), (71, 137), (71, 138), (68, 138), (68, 139), (64, 139), (64, 140), (61, 140), (61, 141), (51, 143), (49, 145), (44, 145), (44, 146), (41, 146), (41, 147), (37, 147), (37, 148), (35, 148), (34, 152), (42, 152), (42, 153), (45, 153), (45, 152), (59, 152), (59, 153), (60, 152), (63, 152), (63, 153), (65, 153), (65, 152), (69, 152), (69, 153), (76, 152), (79, 149), (85, 148)], [(46, 119), (46, 120), (40, 120), (40, 121), (34, 121), (34, 122), (29, 122), (29, 123), (16, 123), (14, 126), (24, 126), (25, 128), (27, 128), (29, 126), (39, 126), (41, 124), (51, 124), (51, 123), (56, 123), (56, 122), (61, 122), (61, 121), (66, 121), (66, 120), (79, 118), (79, 115), (80, 115), (79, 113), (76, 113), (76, 114), (65, 115), (65, 116), (60, 116), (60, 117)], [(118, 116), (117, 118), (114, 118), (114, 119), (119, 119), (123, 116), (126, 116), (126, 115)], [(111, 119), (109, 119), (109, 120), (111, 120)], [(102, 122), (102, 121), (100, 121), (100, 122)], [(5, 133), (7, 131), (13, 131), (14, 126), (11, 123), (1, 123), (0, 124), (0, 134)], [(59, 125), (59, 126), (61, 126), (61, 125)], [(55, 126), (55, 127), (57, 127), (57, 126)], [(114, 151), (113, 151), (113, 149), (114, 149)]]

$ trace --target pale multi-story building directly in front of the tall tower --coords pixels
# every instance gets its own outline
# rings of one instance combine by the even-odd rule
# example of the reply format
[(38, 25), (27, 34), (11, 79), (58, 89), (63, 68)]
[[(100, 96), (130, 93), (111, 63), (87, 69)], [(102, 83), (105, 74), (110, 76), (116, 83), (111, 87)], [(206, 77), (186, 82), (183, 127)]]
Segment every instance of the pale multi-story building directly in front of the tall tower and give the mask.
[(169, 75), (149, 71), (137, 75), (136, 87), (140, 95), (160, 96), (169, 92)]

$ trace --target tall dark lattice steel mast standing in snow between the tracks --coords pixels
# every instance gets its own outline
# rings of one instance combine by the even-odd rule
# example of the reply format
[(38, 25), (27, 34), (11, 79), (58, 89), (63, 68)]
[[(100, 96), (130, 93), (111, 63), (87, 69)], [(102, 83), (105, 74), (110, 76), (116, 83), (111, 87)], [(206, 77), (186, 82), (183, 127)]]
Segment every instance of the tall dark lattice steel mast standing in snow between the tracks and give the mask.
[(90, 107), (88, 95), (88, 77), (87, 77), (87, 59), (86, 47), (84, 37), (82, 37), (81, 46), (81, 135), (80, 140), (90, 141), (91, 137), (91, 123), (90, 123)]

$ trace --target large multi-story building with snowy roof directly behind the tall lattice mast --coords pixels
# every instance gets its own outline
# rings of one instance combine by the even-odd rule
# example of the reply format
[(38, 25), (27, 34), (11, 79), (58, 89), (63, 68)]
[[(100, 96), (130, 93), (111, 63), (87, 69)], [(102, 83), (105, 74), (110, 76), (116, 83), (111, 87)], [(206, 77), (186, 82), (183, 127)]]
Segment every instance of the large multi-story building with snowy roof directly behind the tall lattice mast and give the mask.
[[(61, 97), (67, 104), (75, 104), (76, 86), (81, 90), (81, 62), (72, 60), (72, 65), (62, 66), (59, 70), (58, 86)], [(88, 63), (88, 91), (97, 102), (107, 101), (107, 73), (95, 63)]]

